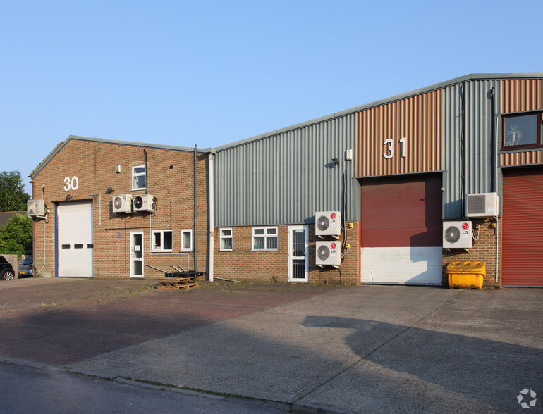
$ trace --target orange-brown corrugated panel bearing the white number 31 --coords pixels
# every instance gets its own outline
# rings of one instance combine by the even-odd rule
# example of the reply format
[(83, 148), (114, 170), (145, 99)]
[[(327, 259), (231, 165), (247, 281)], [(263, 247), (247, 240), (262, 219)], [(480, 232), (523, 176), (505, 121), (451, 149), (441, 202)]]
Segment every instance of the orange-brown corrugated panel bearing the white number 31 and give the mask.
[(438, 89), (359, 112), (357, 176), (441, 170), (441, 108)]

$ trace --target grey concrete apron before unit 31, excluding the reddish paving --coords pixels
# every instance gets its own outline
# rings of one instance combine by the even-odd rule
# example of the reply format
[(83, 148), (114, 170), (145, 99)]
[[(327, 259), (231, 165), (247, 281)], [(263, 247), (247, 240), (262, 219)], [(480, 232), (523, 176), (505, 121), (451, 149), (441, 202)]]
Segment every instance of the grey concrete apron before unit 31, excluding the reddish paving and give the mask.
[(518, 410), (519, 391), (543, 393), (542, 299), (541, 289), (338, 289), (73, 366), (351, 412)]

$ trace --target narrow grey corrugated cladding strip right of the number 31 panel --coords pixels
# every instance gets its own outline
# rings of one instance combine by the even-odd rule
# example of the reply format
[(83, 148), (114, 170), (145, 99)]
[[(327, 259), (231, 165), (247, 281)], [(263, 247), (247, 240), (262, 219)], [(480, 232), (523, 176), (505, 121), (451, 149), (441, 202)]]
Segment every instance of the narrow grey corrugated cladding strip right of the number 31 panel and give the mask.
[(495, 191), (492, 123), (500, 96), (499, 80), (471, 80), (443, 89), (445, 219), (462, 218), (464, 194)]

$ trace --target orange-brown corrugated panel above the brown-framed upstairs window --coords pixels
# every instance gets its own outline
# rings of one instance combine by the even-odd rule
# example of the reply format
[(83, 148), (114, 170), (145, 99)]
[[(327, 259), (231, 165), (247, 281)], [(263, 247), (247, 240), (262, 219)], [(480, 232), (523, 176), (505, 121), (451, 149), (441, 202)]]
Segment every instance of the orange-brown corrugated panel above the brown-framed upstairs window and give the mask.
[(501, 88), (503, 113), (543, 108), (543, 79), (502, 80)]

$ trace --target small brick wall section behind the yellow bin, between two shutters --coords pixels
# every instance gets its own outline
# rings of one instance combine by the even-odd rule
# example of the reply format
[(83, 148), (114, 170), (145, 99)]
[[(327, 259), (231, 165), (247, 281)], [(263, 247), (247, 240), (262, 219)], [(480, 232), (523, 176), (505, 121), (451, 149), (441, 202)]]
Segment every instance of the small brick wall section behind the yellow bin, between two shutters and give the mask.
[(463, 251), (463, 249), (443, 249), (443, 284), (449, 285), (446, 275), (446, 265), (453, 261), (460, 262), (484, 262), (486, 264), (487, 275), (484, 277), (484, 287), (501, 287), (501, 277), (496, 282), (496, 229), (493, 224), (496, 220), (484, 218), (470, 219), (473, 229), (479, 225), (479, 238), (473, 242), (472, 249)]

